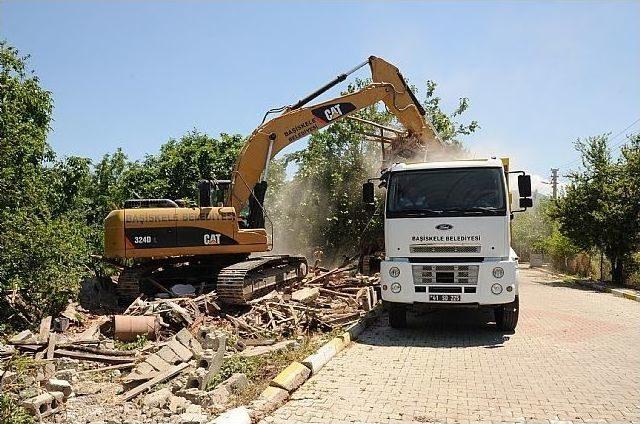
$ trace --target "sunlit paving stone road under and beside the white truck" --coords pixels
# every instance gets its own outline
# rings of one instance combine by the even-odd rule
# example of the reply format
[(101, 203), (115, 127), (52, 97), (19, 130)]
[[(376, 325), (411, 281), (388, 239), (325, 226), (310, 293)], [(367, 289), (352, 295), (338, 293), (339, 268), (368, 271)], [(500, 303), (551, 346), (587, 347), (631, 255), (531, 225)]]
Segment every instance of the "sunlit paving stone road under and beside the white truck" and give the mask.
[(640, 304), (520, 281), (515, 334), (480, 311), (382, 317), (263, 423), (640, 423)]

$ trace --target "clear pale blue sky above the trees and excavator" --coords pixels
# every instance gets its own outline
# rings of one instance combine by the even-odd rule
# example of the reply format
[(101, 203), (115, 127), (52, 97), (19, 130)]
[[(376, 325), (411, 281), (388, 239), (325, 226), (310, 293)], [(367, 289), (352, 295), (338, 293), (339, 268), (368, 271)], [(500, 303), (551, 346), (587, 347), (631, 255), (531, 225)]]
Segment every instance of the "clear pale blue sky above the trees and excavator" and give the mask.
[(248, 135), (376, 55), (419, 89), (436, 81), (446, 111), (468, 97), (462, 121), (481, 128), (465, 146), (511, 157), (542, 191), (550, 168), (579, 165), (577, 138), (611, 132), (617, 148), (640, 131), (638, 22), (640, 1), (0, 0), (0, 39), (53, 93), (61, 156), (138, 159), (194, 128)]

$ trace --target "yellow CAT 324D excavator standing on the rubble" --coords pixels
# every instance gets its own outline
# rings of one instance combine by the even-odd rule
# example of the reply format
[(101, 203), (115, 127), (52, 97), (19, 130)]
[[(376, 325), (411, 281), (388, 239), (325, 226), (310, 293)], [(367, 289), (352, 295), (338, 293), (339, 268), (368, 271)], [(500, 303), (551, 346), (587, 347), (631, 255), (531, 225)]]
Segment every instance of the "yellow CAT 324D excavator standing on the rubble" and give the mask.
[[(371, 68), (368, 85), (309, 105), (366, 65)], [(441, 146), (398, 68), (371, 56), (295, 104), (268, 111), (242, 147), (231, 179), (199, 182), (197, 207), (180, 200), (133, 199), (111, 211), (104, 221), (103, 258), (127, 265), (118, 278), (120, 300), (168, 291), (177, 281), (200, 284), (202, 290), (215, 287), (223, 302), (242, 305), (300, 281), (307, 273), (305, 257), (265, 254), (272, 248), (264, 210), (269, 163), (291, 143), (377, 102), (404, 127), (391, 129), (394, 138), (383, 137), (391, 155)], [(272, 113), (279, 115), (267, 120)]]

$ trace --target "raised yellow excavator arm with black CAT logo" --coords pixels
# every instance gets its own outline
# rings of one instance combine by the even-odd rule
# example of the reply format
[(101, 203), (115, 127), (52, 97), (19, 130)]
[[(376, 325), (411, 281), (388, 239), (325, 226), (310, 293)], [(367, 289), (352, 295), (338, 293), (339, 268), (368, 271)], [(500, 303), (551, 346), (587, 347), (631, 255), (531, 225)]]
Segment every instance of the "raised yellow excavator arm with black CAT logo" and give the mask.
[[(351, 94), (304, 106), (367, 63), (371, 68), (371, 84)], [(436, 131), (425, 117), (424, 109), (398, 68), (383, 59), (371, 56), (367, 62), (338, 76), (295, 105), (285, 108), (280, 116), (263, 123), (251, 134), (236, 162), (227, 204), (239, 212), (249, 202), (249, 226), (263, 226), (264, 221), (260, 220), (261, 214), (258, 209), (261, 209), (264, 200), (264, 180), (271, 159), (294, 141), (379, 101), (385, 103), (388, 110), (407, 130), (407, 135), (402, 137), (402, 140), (413, 140), (424, 149), (441, 145)]]

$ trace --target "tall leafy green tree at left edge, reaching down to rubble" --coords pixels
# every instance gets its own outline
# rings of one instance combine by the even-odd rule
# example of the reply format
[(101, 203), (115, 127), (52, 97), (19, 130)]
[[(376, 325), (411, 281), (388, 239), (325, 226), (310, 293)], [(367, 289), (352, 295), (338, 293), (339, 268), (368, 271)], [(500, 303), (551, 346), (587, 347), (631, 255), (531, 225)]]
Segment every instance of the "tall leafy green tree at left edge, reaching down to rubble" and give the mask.
[(70, 213), (82, 207), (88, 162), (53, 162), (53, 101), (27, 59), (0, 42), (2, 325), (34, 325), (63, 308), (89, 258), (87, 226)]

